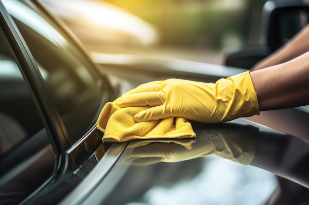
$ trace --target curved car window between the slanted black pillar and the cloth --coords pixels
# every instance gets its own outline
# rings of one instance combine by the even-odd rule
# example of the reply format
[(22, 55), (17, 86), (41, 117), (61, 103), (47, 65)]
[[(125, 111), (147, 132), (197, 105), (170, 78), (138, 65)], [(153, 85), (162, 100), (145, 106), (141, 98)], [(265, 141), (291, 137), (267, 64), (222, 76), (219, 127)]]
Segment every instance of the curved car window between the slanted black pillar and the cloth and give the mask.
[(95, 123), (102, 94), (82, 56), (51, 23), (20, 1), (5, 0), (74, 144)]

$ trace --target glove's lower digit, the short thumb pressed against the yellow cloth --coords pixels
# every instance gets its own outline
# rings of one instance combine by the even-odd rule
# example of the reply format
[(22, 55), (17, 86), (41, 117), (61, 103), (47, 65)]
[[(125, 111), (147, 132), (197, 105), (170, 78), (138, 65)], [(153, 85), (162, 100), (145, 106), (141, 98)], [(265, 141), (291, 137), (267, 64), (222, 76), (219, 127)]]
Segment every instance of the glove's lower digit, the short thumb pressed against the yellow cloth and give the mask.
[(133, 117), (137, 122), (149, 121), (149, 120), (157, 120), (163, 119), (166, 117), (171, 117), (171, 113), (168, 110), (165, 110), (164, 105), (159, 105), (155, 107), (151, 107), (147, 110), (143, 110)]

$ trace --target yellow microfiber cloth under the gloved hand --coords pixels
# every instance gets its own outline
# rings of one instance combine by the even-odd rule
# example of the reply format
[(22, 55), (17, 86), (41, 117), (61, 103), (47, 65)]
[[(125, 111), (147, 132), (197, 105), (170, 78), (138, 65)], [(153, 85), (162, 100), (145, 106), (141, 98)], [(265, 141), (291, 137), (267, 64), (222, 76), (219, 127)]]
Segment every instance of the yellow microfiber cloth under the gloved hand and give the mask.
[(133, 116), (147, 107), (119, 108), (108, 102), (102, 109), (97, 127), (103, 141), (124, 142), (137, 139), (194, 138), (191, 123), (182, 117), (136, 122)]

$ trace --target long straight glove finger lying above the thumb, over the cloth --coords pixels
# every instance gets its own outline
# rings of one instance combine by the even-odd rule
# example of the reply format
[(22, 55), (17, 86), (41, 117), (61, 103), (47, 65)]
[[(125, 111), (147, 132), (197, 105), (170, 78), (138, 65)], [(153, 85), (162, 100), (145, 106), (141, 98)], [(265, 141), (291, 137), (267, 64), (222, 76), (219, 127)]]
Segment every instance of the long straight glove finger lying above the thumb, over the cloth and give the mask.
[(165, 102), (164, 92), (141, 92), (125, 95), (116, 99), (115, 104), (120, 107), (158, 106)]

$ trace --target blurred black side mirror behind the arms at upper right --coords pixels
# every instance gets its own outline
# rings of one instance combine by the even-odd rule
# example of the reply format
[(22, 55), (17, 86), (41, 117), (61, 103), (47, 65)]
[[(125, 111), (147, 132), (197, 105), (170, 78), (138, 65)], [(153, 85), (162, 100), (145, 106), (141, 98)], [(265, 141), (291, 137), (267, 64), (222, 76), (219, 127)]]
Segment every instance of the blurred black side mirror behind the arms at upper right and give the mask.
[(269, 0), (262, 13), (261, 45), (223, 52), (224, 65), (250, 69), (284, 45), (309, 23), (305, 0)]

